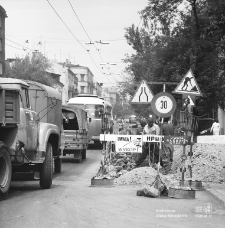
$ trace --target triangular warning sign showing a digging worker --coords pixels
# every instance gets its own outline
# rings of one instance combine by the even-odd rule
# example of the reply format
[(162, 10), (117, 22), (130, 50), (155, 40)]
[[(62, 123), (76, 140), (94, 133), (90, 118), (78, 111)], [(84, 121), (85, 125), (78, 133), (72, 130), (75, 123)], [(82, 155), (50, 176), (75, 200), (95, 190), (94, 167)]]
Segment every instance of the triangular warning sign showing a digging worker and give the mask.
[(192, 70), (189, 70), (187, 72), (187, 74), (183, 77), (180, 84), (178, 84), (173, 93), (202, 96), (201, 90), (197, 84), (194, 74), (192, 73)]

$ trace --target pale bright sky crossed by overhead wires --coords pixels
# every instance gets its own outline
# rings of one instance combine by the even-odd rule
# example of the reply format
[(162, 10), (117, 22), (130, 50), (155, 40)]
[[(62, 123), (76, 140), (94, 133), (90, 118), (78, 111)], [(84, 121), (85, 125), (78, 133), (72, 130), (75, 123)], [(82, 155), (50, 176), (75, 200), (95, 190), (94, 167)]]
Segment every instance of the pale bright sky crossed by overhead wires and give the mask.
[[(30, 49), (40, 50), (49, 59), (69, 59), (73, 64), (89, 67), (98, 82), (110, 86), (122, 78), (119, 74), (126, 66), (122, 59), (134, 53), (124, 38), (125, 28), (141, 25), (138, 12), (147, 3), (148, 0), (1, 0), (8, 16), (6, 58), (23, 57), (32, 52)], [(90, 40), (95, 45), (87, 45)], [(100, 40), (109, 44), (96, 43)], [(20, 45), (28, 49), (24, 51)], [(102, 62), (116, 65), (103, 67)]]

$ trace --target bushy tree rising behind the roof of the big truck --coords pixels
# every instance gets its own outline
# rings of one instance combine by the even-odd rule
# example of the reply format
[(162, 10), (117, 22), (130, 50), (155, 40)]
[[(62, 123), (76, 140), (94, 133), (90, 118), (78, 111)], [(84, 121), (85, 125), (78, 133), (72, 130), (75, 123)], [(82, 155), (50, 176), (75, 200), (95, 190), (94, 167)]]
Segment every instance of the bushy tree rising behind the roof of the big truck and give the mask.
[(51, 68), (49, 60), (42, 54), (33, 55), (32, 58), (26, 55), (25, 58), (16, 58), (14, 62), (6, 62), (5, 77), (32, 80), (44, 85), (52, 86), (52, 79), (47, 69)]

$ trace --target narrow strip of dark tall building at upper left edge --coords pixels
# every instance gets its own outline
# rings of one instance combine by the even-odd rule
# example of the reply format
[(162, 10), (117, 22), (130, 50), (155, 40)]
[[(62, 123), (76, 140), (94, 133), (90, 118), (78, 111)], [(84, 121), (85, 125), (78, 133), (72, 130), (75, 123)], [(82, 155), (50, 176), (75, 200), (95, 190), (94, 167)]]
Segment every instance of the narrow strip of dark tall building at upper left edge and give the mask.
[(0, 6), (0, 77), (5, 74), (5, 9)]

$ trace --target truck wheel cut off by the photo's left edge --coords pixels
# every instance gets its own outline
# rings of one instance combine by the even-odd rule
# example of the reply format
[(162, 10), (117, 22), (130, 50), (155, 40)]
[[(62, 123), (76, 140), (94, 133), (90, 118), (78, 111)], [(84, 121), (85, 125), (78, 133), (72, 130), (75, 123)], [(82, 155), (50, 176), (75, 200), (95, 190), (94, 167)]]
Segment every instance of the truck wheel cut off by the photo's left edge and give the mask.
[(0, 200), (4, 199), (9, 191), (12, 178), (12, 165), (9, 151), (3, 142), (0, 142)]

